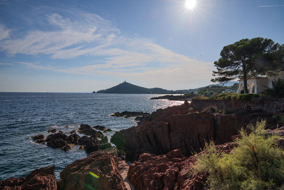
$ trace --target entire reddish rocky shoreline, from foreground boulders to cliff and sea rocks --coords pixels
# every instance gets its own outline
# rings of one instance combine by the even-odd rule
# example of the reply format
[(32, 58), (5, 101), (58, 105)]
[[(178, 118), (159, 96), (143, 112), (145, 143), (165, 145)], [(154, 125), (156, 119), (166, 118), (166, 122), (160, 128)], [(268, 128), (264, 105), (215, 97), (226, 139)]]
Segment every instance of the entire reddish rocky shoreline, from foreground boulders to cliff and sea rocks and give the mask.
[[(200, 154), (206, 142), (213, 140), (218, 151), (229, 153), (235, 147), (232, 141), (238, 131), (261, 119), (267, 120), (267, 134), (284, 136), (284, 127), (277, 128), (277, 119), (268, 113), (252, 110), (246, 114), (219, 114), (192, 110), (190, 106), (185, 101), (145, 115), (137, 126), (115, 132), (110, 141), (116, 147), (95, 130), (106, 131), (103, 126), (81, 124), (69, 136), (55, 130), (46, 138), (34, 136), (37, 143), (65, 151), (80, 145), (89, 155), (67, 165), (57, 181), (55, 166), (48, 166), (26, 177), (2, 180), (0, 190), (202, 190), (207, 186), (208, 173), (190, 171), (196, 162), (193, 154)], [(277, 143), (284, 147), (284, 139)]]

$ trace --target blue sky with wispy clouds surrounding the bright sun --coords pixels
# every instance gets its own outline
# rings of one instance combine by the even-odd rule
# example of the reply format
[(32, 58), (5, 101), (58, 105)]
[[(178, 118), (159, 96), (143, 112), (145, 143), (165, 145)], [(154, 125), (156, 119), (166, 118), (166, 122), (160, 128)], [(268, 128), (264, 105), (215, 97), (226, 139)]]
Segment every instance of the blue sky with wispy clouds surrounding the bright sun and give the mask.
[(283, 31), (283, 0), (0, 0), (0, 91), (198, 88), (224, 46)]

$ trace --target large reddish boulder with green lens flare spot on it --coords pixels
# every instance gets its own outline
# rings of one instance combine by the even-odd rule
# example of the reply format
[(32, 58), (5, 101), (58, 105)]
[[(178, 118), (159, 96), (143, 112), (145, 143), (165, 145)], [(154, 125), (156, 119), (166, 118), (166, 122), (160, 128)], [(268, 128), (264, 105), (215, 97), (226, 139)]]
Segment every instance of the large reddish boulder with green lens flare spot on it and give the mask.
[[(83, 137), (82, 137), (83, 138)], [(120, 158), (115, 147), (98, 150), (88, 157), (67, 165), (61, 172), (63, 190), (92, 189), (126, 190), (120, 171)], [(128, 167), (124, 162), (124, 166)], [(128, 168), (127, 168), (128, 169)]]

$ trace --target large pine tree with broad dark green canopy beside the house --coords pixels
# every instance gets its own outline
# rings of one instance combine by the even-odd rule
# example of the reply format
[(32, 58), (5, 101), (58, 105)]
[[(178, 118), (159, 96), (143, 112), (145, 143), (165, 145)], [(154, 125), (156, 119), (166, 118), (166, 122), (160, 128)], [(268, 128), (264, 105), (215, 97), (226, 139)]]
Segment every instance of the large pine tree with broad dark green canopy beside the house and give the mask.
[(242, 39), (225, 46), (221, 58), (214, 62), (217, 71), (213, 71), (212, 82), (227, 82), (243, 79), (244, 90), (248, 94), (247, 80), (263, 76), (266, 73), (277, 75), (283, 70), (284, 44), (274, 43), (272, 39)]

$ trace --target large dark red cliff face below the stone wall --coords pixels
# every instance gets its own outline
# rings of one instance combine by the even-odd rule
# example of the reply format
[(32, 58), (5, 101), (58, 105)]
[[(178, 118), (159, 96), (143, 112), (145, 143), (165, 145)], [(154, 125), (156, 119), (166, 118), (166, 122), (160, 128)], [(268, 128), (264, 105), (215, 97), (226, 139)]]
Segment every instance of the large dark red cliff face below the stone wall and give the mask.
[(174, 149), (190, 156), (210, 140), (216, 144), (232, 141), (231, 136), (237, 135), (246, 124), (255, 123), (257, 118), (267, 118), (268, 124), (273, 123), (263, 113), (242, 116), (214, 114), (211, 110), (189, 113), (188, 110), (188, 103), (159, 109), (140, 125), (116, 132), (111, 141), (123, 148), (130, 160), (137, 160), (144, 152), (162, 155)]

